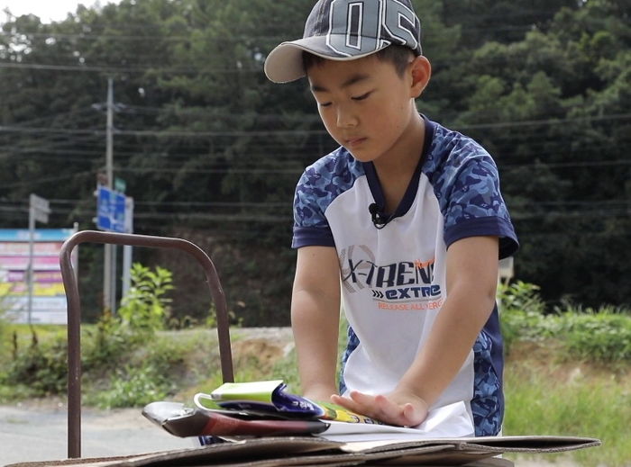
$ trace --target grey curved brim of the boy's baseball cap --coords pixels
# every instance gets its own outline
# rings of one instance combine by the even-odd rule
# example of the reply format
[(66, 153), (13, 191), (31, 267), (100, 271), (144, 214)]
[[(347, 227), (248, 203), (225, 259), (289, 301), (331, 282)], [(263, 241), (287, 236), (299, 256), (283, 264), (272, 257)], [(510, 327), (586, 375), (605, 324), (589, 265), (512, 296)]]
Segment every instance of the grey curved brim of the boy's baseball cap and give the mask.
[(343, 55), (326, 45), (326, 36), (315, 36), (279, 44), (265, 59), (263, 69), (270, 81), (289, 83), (306, 75), (302, 62), (303, 52), (309, 52), (330, 60), (354, 60), (371, 55), (376, 51), (371, 50), (361, 55)]

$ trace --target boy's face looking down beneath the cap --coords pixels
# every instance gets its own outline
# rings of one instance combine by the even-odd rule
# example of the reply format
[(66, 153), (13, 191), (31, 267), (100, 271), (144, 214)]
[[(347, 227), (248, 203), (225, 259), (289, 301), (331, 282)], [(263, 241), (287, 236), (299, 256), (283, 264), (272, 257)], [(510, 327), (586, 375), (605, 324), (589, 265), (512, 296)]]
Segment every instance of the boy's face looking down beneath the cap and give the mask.
[(361, 162), (396, 151), (411, 131), (417, 94), (411, 73), (374, 56), (324, 60), (307, 77), (329, 134)]

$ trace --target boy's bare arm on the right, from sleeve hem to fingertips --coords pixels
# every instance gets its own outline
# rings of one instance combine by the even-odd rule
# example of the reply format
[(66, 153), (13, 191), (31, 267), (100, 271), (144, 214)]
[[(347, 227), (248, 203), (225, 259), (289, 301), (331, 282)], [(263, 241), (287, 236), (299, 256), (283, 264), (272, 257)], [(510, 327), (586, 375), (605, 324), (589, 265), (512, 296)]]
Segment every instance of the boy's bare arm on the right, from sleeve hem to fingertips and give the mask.
[(498, 238), (471, 237), (447, 250), (447, 298), (430, 337), (395, 391), (332, 400), (347, 409), (402, 426), (421, 423), (461, 369), (495, 304)]

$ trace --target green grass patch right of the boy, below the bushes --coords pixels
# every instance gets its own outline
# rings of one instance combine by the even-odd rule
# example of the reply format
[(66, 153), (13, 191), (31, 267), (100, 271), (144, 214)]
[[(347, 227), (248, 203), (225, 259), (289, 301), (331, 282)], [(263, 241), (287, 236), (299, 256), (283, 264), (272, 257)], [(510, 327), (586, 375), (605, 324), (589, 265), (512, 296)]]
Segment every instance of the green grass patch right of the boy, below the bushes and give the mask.
[[(559, 348), (550, 342), (516, 344), (505, 371), (504, 434), (596, 437), (603, 445), (572, 452), (575, 463), (631, 465), (628, 365), (569, 362)], [(546, 454), (546, 460), (567, 455)]]

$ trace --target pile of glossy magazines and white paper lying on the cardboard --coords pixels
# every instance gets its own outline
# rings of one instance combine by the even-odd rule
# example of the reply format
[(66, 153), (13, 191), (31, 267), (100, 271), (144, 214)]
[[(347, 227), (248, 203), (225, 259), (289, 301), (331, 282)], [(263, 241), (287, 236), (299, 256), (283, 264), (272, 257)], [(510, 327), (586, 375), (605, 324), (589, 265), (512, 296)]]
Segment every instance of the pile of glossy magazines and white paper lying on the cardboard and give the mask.
[(175, 436), (320, 436), (331, 441), (417, 440), (474, 436), (464, 402), (431, 409), (416, 427), (396, 427), (331, 402), (288, 391), (282, 380), (225, 383), (198, 392), (195, 407), (152, 402), (142, 414)]

